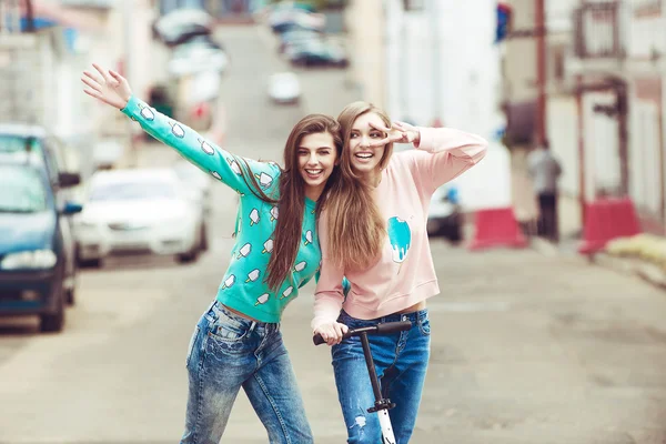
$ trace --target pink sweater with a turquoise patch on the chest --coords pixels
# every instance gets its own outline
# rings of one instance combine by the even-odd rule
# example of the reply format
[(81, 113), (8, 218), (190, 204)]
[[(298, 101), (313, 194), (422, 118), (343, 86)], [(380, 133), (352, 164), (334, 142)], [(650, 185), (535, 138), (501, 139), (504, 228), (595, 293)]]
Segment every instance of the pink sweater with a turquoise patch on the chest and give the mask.
[[(487, 142), (448, 128), (418, 128), (420, 144), (393, 154), (375, 202), (386, 218), (389, 235), (377, 262), (366, 270), (342, 270), (327, 261), (326, 214), (320, 216), (321, 275), (314, 295), (312, 329), (337, 320), (344, 309), (351, 316), (372, 320), (405, 310), (440, 293), (426, 233), (433, 192), (476, 164)], [(353, 215), (350, 215), (353, 216)], [(346, 296), (342, 279), (351, 283)]]

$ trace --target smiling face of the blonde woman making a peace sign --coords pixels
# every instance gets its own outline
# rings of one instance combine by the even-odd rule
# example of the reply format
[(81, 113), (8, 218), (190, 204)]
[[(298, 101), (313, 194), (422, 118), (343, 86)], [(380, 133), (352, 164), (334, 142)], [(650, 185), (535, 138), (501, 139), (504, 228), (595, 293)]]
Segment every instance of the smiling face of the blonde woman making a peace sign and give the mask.
[(354, 120), (350, 134), (349, 150), (350, 163), (354, 172), (361, 175), (379, 173), (386, 145), (371, 147), (386, 137), (383, 131), (374, 127), (384, 128), (386, 123), (374, 112), (366, 112)]

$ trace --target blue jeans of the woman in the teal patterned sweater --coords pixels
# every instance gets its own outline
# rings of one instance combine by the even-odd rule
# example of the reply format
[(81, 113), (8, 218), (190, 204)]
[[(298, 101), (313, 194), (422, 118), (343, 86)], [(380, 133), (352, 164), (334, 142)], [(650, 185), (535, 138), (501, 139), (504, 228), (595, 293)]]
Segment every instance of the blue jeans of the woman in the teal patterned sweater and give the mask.
[(214, 302), (188, 351), (190, 379), (181, 444), (219, 444), (241, 387), (270, 443), (313, 443), (280, 324), (243, 319)]

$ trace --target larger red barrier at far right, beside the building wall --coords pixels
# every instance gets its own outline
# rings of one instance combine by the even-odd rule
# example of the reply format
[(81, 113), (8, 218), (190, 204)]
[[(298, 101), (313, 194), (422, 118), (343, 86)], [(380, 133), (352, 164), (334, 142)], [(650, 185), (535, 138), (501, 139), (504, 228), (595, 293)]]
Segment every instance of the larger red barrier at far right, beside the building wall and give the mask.
[(639, 234), (640, 222), (630, 199), (598, 199), (585, 204), (585, 225), (581, 254), (603, 250), (613, 239)]

